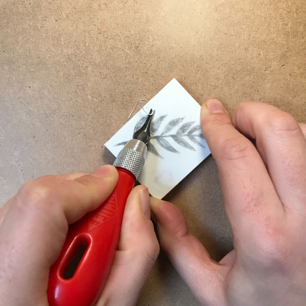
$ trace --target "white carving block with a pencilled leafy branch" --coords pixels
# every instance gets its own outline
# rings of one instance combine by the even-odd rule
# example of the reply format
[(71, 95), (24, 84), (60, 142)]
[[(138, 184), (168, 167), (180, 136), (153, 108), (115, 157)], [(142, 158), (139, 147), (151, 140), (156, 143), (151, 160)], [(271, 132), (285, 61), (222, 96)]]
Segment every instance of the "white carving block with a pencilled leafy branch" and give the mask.
[[(209, 154), (200, 129), (200, 105), (171, 80), (144, 109), (155, 110), (144, 168), (138, 177), (152, 196), (162, 199)], [(141, 109), (105, 146), (117, 156), (147, 114)]]

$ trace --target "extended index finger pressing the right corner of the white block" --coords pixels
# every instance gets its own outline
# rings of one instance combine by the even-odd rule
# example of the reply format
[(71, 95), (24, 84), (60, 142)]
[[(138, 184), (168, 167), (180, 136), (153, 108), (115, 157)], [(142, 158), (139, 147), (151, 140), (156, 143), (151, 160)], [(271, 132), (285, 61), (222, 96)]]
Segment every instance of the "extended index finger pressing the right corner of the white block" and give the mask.
[(254, 145), (233, 127), (217, 99), (202, 105), (201, 128), (218, 167), (233, 236), (249, 241), (266, 227), (267, 219), (277, 222), (283, 215), (267, 169)]

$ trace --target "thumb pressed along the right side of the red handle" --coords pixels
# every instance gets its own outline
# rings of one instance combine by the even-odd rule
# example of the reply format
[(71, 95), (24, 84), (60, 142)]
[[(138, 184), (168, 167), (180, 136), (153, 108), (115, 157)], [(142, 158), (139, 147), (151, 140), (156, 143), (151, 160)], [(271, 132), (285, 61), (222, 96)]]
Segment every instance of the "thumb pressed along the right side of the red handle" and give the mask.
[(149, 192), (140, 185), (127, 199), (114, 262), (96, 306), (135, 305), (158, 253)]

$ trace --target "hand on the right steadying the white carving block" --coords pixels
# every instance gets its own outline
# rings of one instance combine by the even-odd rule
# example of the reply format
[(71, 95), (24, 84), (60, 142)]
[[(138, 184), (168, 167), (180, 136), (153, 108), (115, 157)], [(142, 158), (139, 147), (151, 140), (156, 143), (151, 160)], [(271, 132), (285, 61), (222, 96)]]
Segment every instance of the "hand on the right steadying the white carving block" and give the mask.
[(162, 248), (202, 305), (306, 305), (306, 125), (255, 102), (240, 104), (231, 121), (209, 99), (201, 127), (217, 163), (234, 250), (216, 263), (188, 234), (181, 211), (152, 198)]

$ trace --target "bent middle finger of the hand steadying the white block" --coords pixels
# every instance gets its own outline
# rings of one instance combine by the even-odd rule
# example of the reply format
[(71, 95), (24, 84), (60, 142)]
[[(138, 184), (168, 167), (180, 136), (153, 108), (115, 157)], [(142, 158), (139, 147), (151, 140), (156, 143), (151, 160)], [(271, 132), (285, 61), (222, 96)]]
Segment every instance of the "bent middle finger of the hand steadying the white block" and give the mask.
[(236, 108), (233, 125), (256, 140), (282, 205), (304, 215), (306, 140), (297, 121), (275, 106), (249, 101)]

